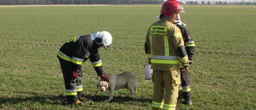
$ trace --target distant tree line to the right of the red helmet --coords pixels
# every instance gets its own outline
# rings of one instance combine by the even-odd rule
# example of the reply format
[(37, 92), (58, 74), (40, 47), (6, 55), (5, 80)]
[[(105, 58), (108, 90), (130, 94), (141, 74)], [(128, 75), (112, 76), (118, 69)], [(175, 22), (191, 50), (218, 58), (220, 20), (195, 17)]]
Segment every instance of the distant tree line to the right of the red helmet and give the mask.
[[(238, 2), (238, 1), (234, 1), (234, 2), (226, 2), (226, 1), (224, 1), (224, 2), (222, 2), (222, 1), (219, 1), (219, 2), (215, 2), (215, 1), (208, 1), (208, 2), (204, 2), (204, 1), (202, 1), (201, 2), (201, 4), (217, 4), (217, 5), (227, 5), (227, 4), (240, 4), (240, 5), (256, 5), (256, 2), (255, 2), (256, 0), (253, 0), (253, 2), (251, 1), (251, 0), (249, 0), (249, 2), (246, 2), (245, 0), (242, 0), (241, 2)], [(182, 3), (182, 2), (180, 2), (181, 4), (184, 4), (184, 3)], [(198, 3), (197, 1), (188, 1), (188, 2), (186, 2), (186, 4), (200, 4), (200, 3)]]

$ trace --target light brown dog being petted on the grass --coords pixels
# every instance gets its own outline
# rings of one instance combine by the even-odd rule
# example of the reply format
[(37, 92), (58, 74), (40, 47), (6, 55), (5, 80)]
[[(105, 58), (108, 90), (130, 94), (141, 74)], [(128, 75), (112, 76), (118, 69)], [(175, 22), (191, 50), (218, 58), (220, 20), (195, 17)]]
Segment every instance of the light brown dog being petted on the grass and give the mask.
[(99, 92), (95, 95), (99, 95), (100, 92), (105, 92), (109, 90), (109, 98), (106, 101), (111, 101), (113, 99), (114, 90), (126, 88), (130, 90), (130, 97), (134, 98), (134, 93), (136, 90), (138, 77), (132, 72), (124, 72), (121, 74), (108, 73), (106, 77), (109, 79), (109, 82), (103, 81), (100, 79), (97, 83), (97, 88)]

